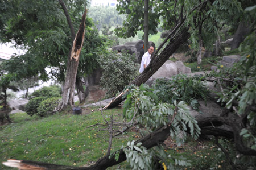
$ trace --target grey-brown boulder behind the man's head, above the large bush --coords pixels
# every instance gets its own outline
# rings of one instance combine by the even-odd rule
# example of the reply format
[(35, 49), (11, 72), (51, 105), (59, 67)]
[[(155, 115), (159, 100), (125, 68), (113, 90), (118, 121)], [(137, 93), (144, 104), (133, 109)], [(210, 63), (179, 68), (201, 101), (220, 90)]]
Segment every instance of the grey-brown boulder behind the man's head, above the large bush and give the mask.
[[(148, 42), (150, 46), (154, 47), (155, 52), (155, 44), (153, 42)], [(113, 51), (126, 51), (129, 54), (135, 54), (137, 63), (141, 63), (142, 56), (144, 55), (144, 49), (143, 49), (143, 40), (137, 40), (135, 42), (127, 42), (124, 45), (117, 45), (112, 47)]]

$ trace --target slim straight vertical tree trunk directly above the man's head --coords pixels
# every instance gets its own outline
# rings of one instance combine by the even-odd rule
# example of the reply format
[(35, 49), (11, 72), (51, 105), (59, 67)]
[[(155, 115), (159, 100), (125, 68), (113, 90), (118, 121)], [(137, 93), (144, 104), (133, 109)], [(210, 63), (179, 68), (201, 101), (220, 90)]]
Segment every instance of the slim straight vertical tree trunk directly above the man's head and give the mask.
[(144, 52), (148, 49), (148, 0), (144, 0)]

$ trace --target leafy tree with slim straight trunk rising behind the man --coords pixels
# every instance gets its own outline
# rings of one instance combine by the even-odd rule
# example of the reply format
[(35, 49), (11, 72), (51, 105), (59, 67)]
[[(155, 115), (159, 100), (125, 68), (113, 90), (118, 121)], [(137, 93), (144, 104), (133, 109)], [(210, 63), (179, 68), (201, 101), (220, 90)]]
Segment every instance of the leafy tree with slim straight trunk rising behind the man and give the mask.
[(119, 14), (125, 14), (126, 20), (122, 27), (115, 28), (115, 34), (119, 37), (134, 37), (137, 31), (143, 30), (144, 50), (148, 47), (148, 34), (156, 34), (159, 20), (158, 11), (154, 11), (157, 6), (156, 1), (140, 0), (126, 1), (118, 0), (117, 10)]

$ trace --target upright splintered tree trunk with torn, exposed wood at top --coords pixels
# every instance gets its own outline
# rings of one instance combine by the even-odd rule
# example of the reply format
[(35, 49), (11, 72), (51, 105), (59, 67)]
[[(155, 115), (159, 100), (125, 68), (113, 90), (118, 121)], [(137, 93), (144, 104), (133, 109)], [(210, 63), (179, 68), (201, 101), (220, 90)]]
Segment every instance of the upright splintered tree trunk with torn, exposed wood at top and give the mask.
[(74, 105), (76, 74), (79, 65), (79, 55), (82, 49), (82, 44), (84, 43), (86, 13), (87, 10), (85, 10), (84, 14), (82, 15), (79, 31), (77, 32), (75, 40), (73, 41), (71, 52), (69, 52), (62, 101), (59, 104), (58, 110), (64, 109), (64, 107), (67, 105), (71, 105), (72, 107)]

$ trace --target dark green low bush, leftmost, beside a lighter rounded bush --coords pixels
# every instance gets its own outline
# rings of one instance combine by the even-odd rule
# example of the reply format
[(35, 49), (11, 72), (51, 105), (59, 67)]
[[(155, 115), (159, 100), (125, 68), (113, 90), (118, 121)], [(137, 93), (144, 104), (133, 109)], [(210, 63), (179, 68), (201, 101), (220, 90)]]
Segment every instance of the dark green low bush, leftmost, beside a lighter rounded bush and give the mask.
[(30, 101), (25, 106), (26, 113), (31, 116), (36, 114), (38, 112), (37, 109), (40, 102), (44, 101), (45, 99), (47, 99), (47, 97), (44, 97), (44, 96), (30, 99)]

